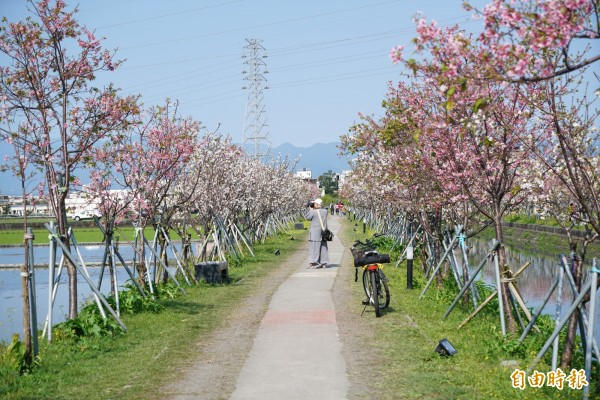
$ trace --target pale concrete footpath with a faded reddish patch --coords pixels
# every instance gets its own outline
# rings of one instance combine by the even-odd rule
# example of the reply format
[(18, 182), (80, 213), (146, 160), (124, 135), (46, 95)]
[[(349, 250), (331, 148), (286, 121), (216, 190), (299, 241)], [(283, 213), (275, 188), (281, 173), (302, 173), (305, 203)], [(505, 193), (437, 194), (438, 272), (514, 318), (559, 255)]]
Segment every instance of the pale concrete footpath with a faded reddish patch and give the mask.
[(307, 269), (307, 257), (277, 289), (260, 323), (231, 399), (345, 399), (349, 387), (338, 335), (332, 286), (344, 247), (340, 217), (329, 215), (335, 235), (331, 263)]

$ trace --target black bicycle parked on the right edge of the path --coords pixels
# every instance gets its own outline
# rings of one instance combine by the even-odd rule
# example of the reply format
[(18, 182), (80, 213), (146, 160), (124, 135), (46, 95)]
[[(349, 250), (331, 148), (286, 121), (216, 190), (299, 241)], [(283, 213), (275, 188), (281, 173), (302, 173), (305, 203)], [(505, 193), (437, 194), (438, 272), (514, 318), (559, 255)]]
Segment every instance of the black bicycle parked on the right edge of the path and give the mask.
[[(363, 243), (357, 240), (350, 250), (356, 268), (354, 282), (358, 281), (358, 267), (363, 268), (363, 288), (367, 295), (367, 299), (363, 301), (365, 309), (371, 305), (375, 309), (375, 316), (381, 317), (383, 309), (390, 305), (388, 278), (382, 270), (383, 264), (390, 262), (390, 256), (389, 254), (379, 254), (369, 241)], [(363, 309), (363, 313), (365, 309)]]

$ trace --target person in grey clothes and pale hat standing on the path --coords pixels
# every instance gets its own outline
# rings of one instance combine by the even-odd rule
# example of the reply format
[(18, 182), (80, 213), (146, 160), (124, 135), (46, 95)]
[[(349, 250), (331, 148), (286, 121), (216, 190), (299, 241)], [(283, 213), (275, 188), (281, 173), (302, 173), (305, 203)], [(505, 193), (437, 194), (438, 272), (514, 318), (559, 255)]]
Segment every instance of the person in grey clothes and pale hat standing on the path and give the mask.
[(327, 241), (321, 232), (327, 229), (327, 210), (321, 208), (323, 200), (316, 199), (309, 203), (306, 219), (310, 221), (308, 228), (308, 268), (326, 268), (329, 263)]

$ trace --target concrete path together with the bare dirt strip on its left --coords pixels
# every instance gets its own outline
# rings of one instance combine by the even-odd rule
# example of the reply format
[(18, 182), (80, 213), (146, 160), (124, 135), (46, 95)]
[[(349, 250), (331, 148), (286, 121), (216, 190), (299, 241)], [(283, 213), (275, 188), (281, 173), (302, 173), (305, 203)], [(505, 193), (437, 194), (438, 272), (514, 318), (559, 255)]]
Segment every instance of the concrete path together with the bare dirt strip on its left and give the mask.
[(164, 388), (164, 398), (346, 399), (363, 390), (349, 382), (356, 365), (347, 365), (348, 346), (341, 341), (356, 332), (340, 331), (334, 307), (340, 301), (333, 298), (336, 277), (351, 262), (337, 235), (341, 223), (341, 217), (329, 216), (336, 236), (327, 268), (306, 268), (307, 244), (282, 260), (259, 293), (199, 343), (198, 359)]

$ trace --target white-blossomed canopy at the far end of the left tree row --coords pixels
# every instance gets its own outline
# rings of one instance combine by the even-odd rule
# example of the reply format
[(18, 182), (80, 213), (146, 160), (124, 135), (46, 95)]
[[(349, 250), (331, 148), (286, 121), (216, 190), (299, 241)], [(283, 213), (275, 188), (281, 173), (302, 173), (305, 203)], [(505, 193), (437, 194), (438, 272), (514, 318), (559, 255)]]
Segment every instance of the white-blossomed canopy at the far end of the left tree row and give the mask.
[[(193, 186), (190, 201), (194, 214), (188, 220), (205, 239), (218, 220), (235, 225), (254, 241), (265, 220), (297, 213), (311, 196), (314, 198), (308, 186), (293, 177), (290, 160), (262, 164), (233, 145), (230, 138), (203, 138), (190, 164), (190, 171), (198, 171), (200, 179)], [(178, 191), (189, 191), (192, 181), (182, 179)]]

